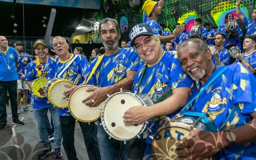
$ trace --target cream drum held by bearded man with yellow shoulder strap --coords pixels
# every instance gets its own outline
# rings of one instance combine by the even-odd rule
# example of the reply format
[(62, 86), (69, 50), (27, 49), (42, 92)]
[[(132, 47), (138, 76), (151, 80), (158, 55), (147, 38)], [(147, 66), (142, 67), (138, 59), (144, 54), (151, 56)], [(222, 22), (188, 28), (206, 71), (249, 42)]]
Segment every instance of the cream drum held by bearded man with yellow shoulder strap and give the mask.
[(69, 96), (68, 109), (72, 116), (82, 122), (92, 122), (100, 117), (100, 109), (104, 101), (98, 106), (89, 107), (82, 103), (82, 100), (91, 95), (93, 92), (86, 90), (95, 87), (93, 85), (82, 85), (76, 88)]

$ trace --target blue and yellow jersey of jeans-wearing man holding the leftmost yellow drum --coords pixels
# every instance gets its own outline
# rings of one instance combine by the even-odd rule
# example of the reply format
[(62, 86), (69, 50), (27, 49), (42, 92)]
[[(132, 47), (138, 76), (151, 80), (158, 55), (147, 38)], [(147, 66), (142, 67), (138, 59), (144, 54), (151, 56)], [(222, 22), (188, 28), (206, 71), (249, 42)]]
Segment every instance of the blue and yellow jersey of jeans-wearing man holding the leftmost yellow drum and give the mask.
[[(48, 73), (55, 69), (55, 65), (56, 65), (55, 59), (48, 57), (48, 60), (46, 63), (40, 63), (40, 64), (44, 66), (43, 71), (47, 73), (47, 77), (53, 78), (48, 76)], [(25, 75), (25, 80), (34, 81), (37, 78), (39, 78), (39, 76), (37, 75), (37, 71), (36, 71), (36, 60), (34, 60), (31, 63), (29, 63), (27, 66), (27, 74)], [(33, 95), (33, 108), (37, 109), (37, 108), (50, 108), (50, 107), (53, 107), (53, 105), (50, 103), (50, 101), (46, 97), (39, 98)]]

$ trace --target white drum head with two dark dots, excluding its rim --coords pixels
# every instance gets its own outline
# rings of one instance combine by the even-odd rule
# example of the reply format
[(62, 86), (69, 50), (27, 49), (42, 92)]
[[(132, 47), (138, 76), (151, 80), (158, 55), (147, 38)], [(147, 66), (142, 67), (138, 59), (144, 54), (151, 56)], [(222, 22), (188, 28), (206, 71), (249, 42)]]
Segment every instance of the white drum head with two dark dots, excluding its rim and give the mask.
[(107, 101), (101, 118), (107, 130), (117, 137), (116, 139), (128, 140), (140, 133), (143, 123), (125, 125), (123, 122), (124, 112), (135, 105), (141, 105), (141, 103), (130, 93), (116, 94)]

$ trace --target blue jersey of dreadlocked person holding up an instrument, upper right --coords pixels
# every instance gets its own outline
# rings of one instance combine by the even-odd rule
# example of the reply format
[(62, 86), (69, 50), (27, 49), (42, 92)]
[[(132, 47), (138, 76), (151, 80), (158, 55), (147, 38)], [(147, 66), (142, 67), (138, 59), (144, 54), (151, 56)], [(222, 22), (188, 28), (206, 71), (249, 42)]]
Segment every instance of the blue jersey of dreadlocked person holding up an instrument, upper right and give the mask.
[[(238, 25), (236, 25), (236, 32), (237, 32), (237, 37), (243, 37), (243, 32)], [(225, 32), (225, 24), (219, 26), (217, 33), (223, 33), (226, 36), (226, 41), (224, 42), (224, 47), (236, 44), (237, 37), (228, 35)]]

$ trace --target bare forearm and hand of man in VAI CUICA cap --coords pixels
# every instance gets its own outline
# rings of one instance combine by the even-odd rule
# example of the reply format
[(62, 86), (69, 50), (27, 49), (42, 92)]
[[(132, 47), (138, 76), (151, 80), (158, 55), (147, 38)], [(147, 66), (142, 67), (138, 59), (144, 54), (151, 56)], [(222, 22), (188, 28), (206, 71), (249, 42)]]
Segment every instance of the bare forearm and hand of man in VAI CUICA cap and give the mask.
[(166, 115), (185, 106), (191, 92), (190, 87), (178, 87), (172, 90), (173, 95), (151, 106), (133, 106), (124, 113), (125, 125), (139, 124), (151, 117)]

